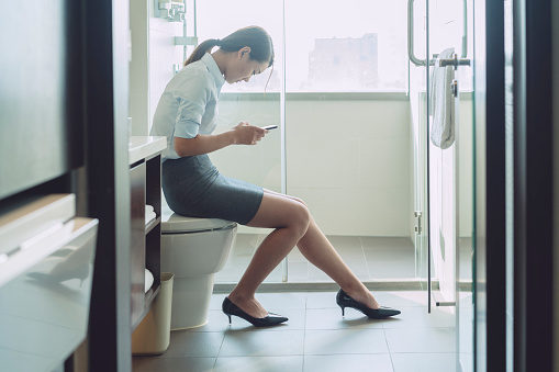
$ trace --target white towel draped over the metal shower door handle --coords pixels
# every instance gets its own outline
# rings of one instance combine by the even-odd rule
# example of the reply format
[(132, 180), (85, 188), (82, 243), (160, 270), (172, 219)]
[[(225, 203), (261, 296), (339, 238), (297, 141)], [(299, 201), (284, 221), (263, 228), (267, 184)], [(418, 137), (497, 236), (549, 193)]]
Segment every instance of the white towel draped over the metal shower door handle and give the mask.
[[(454, 48), (443, 50), (438, 58), (450, 59)], [(433, 125), (431, 140), (433, 145), (443, 149), (450, 147), (455, 142), (455, 97), (450, 84), (455, 79), (452, 66), (433, 67), (431, 77), (431, 110)]]

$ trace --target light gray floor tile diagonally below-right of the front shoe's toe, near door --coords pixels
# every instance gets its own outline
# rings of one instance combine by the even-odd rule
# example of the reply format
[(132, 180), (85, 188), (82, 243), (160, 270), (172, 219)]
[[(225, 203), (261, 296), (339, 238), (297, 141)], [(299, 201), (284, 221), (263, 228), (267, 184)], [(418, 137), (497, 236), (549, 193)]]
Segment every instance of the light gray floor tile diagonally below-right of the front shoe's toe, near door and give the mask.
[(390, 353), (456, 352), (455, 328), (384, 329)]

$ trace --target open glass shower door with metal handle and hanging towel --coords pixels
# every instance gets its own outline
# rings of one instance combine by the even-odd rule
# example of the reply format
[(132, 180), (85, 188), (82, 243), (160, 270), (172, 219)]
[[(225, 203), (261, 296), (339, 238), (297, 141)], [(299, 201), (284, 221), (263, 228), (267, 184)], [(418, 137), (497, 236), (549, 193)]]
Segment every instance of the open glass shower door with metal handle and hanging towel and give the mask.
[[(435, 304), (456, 319), (457, 371), (473, 371), (473, 2), (428, 0), (429, 230)], [(470, 45), (469, 45), (470, 44)], [(440, 89), (440, 88), (444, 89)], [(440, 94), (443, 92), (443, 94)], [(446, 114), (450, 110), (450, 120)], [(446, 120), (445, 120), (446, 119)], [(432, 136), (450, 129), (446, 144)], [(445, 136), (441, 136), (445, 138)]]

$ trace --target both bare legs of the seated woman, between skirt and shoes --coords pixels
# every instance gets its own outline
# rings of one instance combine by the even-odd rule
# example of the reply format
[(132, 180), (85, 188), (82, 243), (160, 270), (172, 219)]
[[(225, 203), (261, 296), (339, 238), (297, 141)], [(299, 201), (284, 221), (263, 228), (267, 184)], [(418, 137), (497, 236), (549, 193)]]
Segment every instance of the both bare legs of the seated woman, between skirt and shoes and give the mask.
[(228, 295), (249, 315), (266, 316), (266, 309), (254, 297), (255, 292), (295, 245), (311, 263), (329, 275), (348, 295), (371, 308), (379, 307), (372, 294), (349, 270), (314, 223), (301, 200), (265, 190), (260, 207), (247, 226), (276, 228), (260, 244), (238, 284)]

